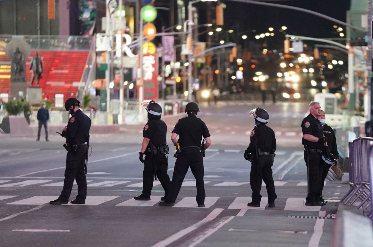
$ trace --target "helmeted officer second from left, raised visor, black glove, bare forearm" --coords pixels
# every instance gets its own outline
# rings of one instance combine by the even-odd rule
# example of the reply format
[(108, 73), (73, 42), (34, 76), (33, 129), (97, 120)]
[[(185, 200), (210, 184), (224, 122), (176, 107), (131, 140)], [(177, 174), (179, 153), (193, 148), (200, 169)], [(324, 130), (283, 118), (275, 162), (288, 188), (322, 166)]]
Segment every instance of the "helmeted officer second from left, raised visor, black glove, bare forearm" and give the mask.
[[(142, 130), (144, 139), (140, 153), (140, 161), (144, 163), (142, 184), (144, 189), (135, 200), (150, 200), (151, 189), (153, 188), (153, 175), (157, 177), (164, 189), (164, 196), (169, 193), (171, 181), (167, 174), (168, 168), (168, 146), (166, 144), (167, 125), (162, 121), (162, 107), (154, 101), (150, 101), (145, 108), (148, 112), (148, 122)], [(145, 159), (144, 159), (145, 154)], [(165, 197), (161, 197), (164, 200)]]

